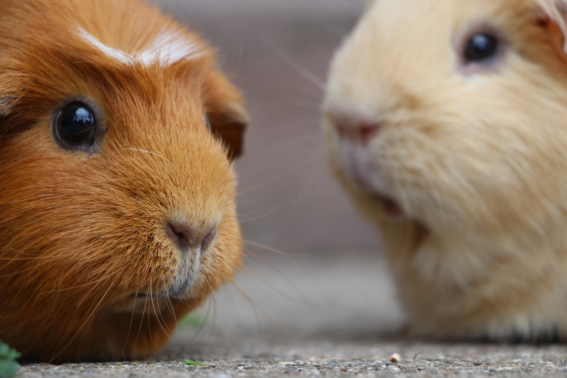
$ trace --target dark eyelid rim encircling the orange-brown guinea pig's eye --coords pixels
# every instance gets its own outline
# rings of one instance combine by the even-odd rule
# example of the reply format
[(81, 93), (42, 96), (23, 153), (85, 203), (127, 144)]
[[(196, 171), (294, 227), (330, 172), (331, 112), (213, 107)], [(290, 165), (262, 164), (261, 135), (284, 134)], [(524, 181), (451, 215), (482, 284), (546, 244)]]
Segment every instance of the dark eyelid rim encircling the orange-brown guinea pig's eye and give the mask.
[[(87, 107), (91, 110), (93, 116), (95, 117), (95, 143), (92, 146), (67, 145), (67, 143), (62, 141), (62, 138), (59, 135), (57, 126), (61, 114), (63, 113), (66, 107), (75, 103), (87, 105)], [(104, 122), (104, 117), (99, 111), (99, 107), (94, 103), (94, 101), (92, 101), (91, 99), (85, 96), (69, 97), (69, 99), (63, 101), (57, 108), (55, 108), (52, 113), (51, 129), (52, 129), (53, 140), (57, 143), (57, 146), (59, 146), (60, 148), (66, 151), (82, 152), (83, 154), (87, 154), (88, 156), (96, 155), (100, 152), (104, 135), (107, 132), (107, 127)]]

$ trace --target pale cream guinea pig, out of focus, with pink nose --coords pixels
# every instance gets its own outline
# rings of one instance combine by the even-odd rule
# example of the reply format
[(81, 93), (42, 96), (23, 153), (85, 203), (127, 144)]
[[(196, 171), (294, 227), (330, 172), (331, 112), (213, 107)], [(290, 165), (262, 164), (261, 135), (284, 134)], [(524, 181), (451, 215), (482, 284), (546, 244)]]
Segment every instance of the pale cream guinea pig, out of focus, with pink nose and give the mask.
[(338, 50), (329, 160), (418, 337), (567, 339), (567, 1), (377, 0)]

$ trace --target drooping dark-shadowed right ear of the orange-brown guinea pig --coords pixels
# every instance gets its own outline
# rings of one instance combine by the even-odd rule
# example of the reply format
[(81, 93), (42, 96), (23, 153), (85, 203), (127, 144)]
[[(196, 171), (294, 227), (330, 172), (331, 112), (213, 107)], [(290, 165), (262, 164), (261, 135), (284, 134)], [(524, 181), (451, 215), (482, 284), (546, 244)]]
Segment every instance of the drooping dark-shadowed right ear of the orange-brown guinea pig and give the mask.
[(211, 107), (207, 111), (211, 133), (217, 135), (229, 150), (229, 158), (242, 155), (244, 130), (248, 125), (248, 115), (240, 103), (230, 103)]

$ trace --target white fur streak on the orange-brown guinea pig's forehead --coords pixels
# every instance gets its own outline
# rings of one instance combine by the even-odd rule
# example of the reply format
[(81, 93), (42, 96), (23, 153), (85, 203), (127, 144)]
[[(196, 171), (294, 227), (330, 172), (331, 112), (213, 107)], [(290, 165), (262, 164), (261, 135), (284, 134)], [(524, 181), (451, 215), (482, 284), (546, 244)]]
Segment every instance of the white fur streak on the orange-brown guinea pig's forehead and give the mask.
[(132, 54), (101, 43), (81, 27), (78, 28), (78, 35), (105, 55), (125, 64), (142, 63), (150, 65), (158, 62), (172, 64), (183, 59), (194, 59), (207, 53), (202, 48), (203, 46), (197, 43), (196, 39), (188, 40), (180, 32), (163, 31), (148, 48)]

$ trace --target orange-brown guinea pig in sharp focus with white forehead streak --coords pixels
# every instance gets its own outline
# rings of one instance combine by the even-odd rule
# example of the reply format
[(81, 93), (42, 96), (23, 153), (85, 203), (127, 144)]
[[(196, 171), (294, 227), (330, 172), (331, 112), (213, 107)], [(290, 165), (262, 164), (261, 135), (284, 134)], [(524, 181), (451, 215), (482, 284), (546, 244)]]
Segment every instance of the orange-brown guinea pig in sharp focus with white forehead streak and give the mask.
[(137, 0), (0, 15), (0, 339), (44, 362), (141, 358), (240, 265), (242, 99)]

